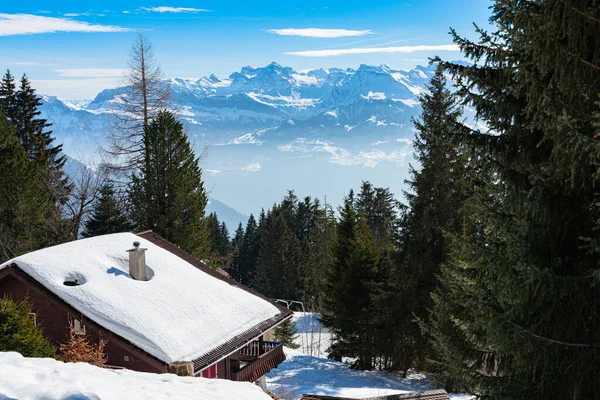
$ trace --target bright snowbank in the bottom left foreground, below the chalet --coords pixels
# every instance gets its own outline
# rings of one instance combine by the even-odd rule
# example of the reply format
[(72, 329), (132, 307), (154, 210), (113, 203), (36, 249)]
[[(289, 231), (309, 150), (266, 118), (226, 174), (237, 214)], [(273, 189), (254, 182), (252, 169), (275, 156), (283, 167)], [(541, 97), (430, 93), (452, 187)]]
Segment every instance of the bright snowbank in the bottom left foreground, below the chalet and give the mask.
[(270, 397), (251, 383), (108, 370), (85, 363), (0, 352), (0, 399), (269, 400)]

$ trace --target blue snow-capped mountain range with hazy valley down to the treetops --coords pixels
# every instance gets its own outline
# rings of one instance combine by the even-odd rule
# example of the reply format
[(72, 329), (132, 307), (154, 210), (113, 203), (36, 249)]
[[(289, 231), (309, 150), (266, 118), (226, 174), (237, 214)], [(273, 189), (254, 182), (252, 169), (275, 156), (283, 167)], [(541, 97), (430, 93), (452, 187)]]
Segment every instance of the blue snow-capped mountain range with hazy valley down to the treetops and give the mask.
[[(213, 179), (212, 196), (248, 215), (279, 200), (287, 188), (337, 199), (350, 181), (377, 181), (378, 174), (391, 174), (389, 167), (401, 167), (403, 174), (412, 151), (411, 118), (420, 113), (418, 96), (434, 72), (434, 66), (403, 71), (386, 65), (295, 71), (273, 62), (227, 78), (213, 74), (165, 84), (197, 150), (209, 146), (203, 169)], [(116, 93), (107, 88), (92, 101), (43, 96), (43, 116), (68, 155), (91, 157), (106, 146), (111, 113), (118, 112)], [(360, 176), (346, 167), (362, 168)], [(335, 182), (315, 186), (327, 174)], [(236, 204), (240, 186), (256, 190), (264, 181), (269, 186), (259, 189), (256, 204)], [(267, 197), (266, 191), (276, 194)]]

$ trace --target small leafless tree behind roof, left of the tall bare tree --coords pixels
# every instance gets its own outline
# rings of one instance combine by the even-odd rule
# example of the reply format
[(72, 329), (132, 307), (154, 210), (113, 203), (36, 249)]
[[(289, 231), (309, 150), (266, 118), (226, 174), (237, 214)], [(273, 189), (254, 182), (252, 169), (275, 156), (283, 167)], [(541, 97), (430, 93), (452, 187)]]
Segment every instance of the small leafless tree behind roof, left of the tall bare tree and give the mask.
[(70, 224), (71, 238), (77, 240), (86, 216), (98, 200), (100, 189), (110, 181), (110, 170), (101, 166), (97, 171), (93, 171), (82, 163), (76, 176), (72, 176), (71, 179), (73, 189), (64, 210)]

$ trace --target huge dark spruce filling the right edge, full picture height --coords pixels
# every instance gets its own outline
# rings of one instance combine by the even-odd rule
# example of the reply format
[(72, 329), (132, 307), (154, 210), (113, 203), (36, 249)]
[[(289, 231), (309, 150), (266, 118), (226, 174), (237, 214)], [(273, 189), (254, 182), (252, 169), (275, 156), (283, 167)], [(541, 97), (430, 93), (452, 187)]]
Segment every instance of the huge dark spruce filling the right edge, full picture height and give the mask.
[(495, 132), (463, 135), (495, 175), (442, 269), (434, 344), (483, 398), (600, 398), (600, 4), (496, 1), (491, 21), (454, 33), (474, 65), (442, 63)]

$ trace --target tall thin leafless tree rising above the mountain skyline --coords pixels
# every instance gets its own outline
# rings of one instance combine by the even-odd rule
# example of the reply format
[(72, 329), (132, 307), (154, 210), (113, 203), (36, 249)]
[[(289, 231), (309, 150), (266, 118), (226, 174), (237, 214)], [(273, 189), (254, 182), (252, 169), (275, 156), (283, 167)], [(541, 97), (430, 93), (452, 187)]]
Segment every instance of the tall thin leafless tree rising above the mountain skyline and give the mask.
[(113, 171), (128, 172), (144, 159), (143, 133), (158, 111), (168, 108), (171, 86), (156, 58), (150, 41), (141, 33), (131, 48), (128, 70), (117, 89), (106, 164)]

